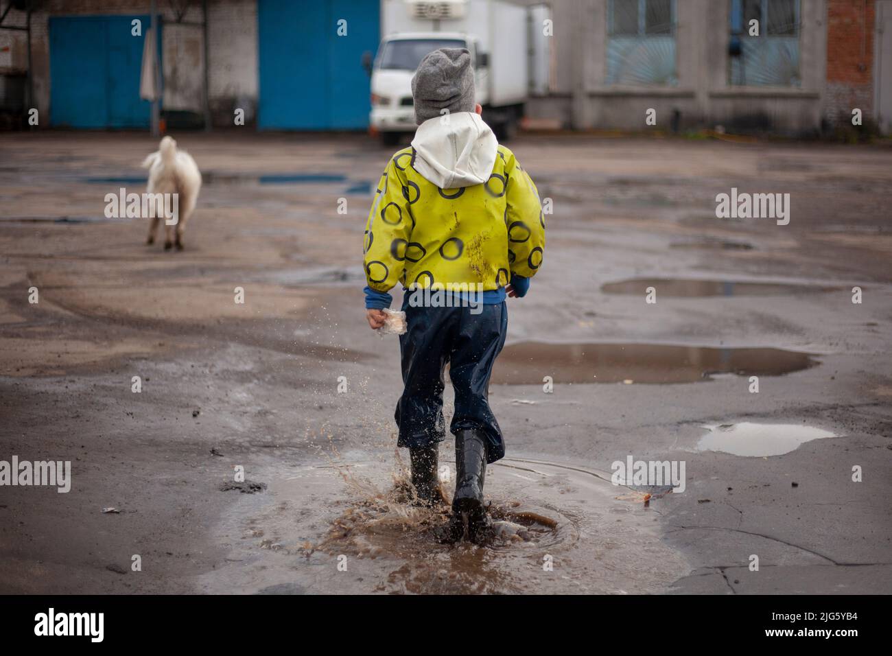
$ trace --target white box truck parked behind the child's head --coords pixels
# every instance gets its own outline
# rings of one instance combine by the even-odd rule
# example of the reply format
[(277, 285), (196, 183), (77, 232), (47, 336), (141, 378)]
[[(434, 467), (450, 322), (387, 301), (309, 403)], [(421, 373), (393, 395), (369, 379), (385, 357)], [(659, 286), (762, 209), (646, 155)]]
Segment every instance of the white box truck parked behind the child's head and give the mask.
[(415, 131), (412, 76), (425, 54), (450, 47), (471, 53), (483, 120), (500, 140), (513, 136), (530, 92), (533, 12), (542, 11), (504, 0), (382, 0), (384, 38), (374, 65), (364, 55), (372, 78), (370, 132), (396, 145)]

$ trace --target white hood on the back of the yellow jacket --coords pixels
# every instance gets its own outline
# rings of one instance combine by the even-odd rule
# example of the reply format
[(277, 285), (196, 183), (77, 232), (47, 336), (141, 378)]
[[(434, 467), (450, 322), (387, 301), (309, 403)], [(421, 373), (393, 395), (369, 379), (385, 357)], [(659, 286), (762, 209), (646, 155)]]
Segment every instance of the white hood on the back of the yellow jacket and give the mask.
[(475, 112), (436, 116), (418, 126), (413, 167), (441, 189), (472, 187), (490, 179), (499, 142)]

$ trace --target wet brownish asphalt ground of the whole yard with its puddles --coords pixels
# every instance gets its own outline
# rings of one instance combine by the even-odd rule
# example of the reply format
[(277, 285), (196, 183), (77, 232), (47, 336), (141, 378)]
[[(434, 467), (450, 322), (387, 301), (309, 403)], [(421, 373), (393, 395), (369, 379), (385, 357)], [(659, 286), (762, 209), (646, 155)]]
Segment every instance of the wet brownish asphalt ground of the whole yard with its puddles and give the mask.
[[(0, 461), (72, 467), (68, 494), (0, 487), (0, 592), (892, 589), (888, 146), (508, 144), (554, 211), (509, 301), (475, 546), (409, 503), (399, 347), (364, 319), (389, 154), (175, 137), (205, 176), (182, 253), (103, 216), (145, 189), (148, 137), (0, 140)], [(716, 219), (731, 187), (789, 193), (789, 225)], [(630, 456), (683, 463), (684, 491), (612, 485)]]

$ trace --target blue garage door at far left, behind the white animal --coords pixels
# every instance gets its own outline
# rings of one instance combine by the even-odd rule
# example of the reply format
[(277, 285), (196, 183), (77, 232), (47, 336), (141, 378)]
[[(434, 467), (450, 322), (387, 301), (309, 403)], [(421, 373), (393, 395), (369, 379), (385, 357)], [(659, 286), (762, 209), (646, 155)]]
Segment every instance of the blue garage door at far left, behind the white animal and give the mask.
[[(131, 21), (143, 21), (143, 35)], [(139, 97), (148, 16), (51, 17), (50, 122), (71, 128), (148, 128)], [(160, 39), (160, 34), (159, 34)]]

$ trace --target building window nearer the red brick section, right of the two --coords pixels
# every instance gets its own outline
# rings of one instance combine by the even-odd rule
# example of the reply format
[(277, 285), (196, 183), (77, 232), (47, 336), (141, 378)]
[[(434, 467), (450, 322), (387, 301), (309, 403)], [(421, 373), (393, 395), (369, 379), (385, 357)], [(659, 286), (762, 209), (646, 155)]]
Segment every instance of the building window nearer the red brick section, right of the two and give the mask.
[(799, 0), (731, 0), (730, 21), (731, 85), (800, 86)]

